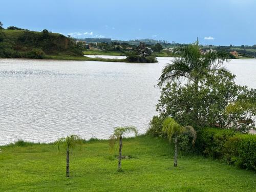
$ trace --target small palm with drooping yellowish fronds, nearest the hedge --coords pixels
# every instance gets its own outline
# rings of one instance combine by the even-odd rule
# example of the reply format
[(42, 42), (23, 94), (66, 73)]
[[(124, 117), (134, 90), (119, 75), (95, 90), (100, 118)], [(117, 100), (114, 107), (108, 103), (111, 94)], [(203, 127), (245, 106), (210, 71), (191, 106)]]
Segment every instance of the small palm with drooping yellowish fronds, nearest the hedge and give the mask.
[(167, 134), (169, 141), (172, 141), (174, 137), (175, 153), (174, 153), (174, 166), (177, 166), (178, 159), (178, 135), (185, 132), (189, 133), (192, 137), (192, 143), (194, 144), (197, 138), (197, 133), (191, 126), (182, 126), (177, 123), (173, 118), (167, 117), (163, 122), (163, 132)]

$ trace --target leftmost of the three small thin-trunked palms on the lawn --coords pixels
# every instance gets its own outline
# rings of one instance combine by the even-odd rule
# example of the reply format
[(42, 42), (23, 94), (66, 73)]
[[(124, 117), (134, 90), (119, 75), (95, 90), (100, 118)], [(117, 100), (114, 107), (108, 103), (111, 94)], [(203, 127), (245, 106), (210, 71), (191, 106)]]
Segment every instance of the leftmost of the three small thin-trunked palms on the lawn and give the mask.
[(66, 151), (67, 151), (66, 177), (69, 177), (69, 152), (74, 147), (81, 144), (82, 139), (77, 135), (70, 135), (67, 137), (59, 138), (55, 142), (58, 145), (58, 151), (59, 151), (60, 145), (66, 148)]

